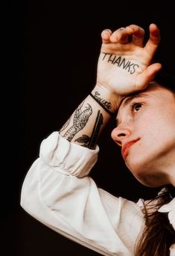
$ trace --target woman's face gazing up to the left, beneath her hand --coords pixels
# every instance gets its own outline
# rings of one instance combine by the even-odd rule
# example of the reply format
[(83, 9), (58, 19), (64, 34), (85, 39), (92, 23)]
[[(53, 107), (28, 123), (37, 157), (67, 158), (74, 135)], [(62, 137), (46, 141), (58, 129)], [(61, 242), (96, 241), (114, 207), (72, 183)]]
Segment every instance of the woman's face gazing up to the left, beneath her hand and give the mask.
[(175, 95), (171, 91), (151, 82), (141, 93), (124, 98), (112, 139), (141, 183), (175, 183)]

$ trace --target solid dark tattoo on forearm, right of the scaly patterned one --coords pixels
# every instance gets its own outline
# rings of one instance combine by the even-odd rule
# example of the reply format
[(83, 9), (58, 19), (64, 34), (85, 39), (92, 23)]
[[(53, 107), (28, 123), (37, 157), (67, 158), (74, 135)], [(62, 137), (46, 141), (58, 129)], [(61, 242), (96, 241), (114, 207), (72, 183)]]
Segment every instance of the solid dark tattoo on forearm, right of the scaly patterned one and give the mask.
[(89, 137), (88, 135), (83, 135), (82, 137), (77, 138), (74, 141), (82, 143), (83, 147), (89, 147), (90, 149), (95, 149), (95, 144), (101, 129), (101, 125), (103, 124), (103, 121), (104, 121), (103, 115), (100, 113), (100, 110), (98, 110), (98, 115), (95, 120), (95, 126), (92, 130), (91, 137)]

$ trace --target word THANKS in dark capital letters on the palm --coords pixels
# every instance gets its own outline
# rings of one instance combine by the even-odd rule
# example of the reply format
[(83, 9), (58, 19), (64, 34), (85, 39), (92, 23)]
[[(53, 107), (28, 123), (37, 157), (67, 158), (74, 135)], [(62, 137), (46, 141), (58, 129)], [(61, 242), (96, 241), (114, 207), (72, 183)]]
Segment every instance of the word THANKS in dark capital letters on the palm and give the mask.
[(127, 61), (126, 58), (109, 53), (104, 53), (103, 61), (104, 60), (112, 63), (113, 65), (118, 65), (118, 67), (121, 67), (123, 70), (127, 70), (130, 74), (135, 73), (136, 68), (139, 67), (138, 64), (131, 63), (131, 61)]

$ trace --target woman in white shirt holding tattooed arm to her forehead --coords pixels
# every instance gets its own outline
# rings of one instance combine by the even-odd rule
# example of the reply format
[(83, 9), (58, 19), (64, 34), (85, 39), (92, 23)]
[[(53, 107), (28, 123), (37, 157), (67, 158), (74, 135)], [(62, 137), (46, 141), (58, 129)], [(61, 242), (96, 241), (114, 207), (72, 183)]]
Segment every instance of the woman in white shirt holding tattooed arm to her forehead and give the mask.
[[(21, 205), (43, 224), (102, 255), (175, 254), (175, 93), (153, 63), (159, 28), (138, 25), (101, 34), (95, 88), (60, 129), (42, 141), (22, 186)], [(156, 78), (155, 78), (156, 76)], [(155, 79), (154, 79), (155, 78)], [(89, 177), (98, 137), (115, 117), (112, 139), (133, 175), (165, 186), (134, 203), (99, 189)], [(76, 207), (75, 207), (76, 206)]]

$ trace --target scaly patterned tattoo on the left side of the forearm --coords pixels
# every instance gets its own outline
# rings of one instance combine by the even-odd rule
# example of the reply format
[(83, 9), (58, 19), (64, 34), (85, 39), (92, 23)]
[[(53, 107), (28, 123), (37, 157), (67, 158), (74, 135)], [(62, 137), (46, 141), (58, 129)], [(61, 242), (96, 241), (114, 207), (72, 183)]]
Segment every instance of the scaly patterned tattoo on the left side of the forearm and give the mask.
[(71, 141), (74, 135), (86, 126), (89, 116), (92, 115), (92, 107), (89, 103), (87, 103), (87, 105), (88, 106), (85, 107), (86, 109), (82, 111), (83, 103), (81, 103), (75, 110), (73, 125), (63, 135), (68, 141)]

